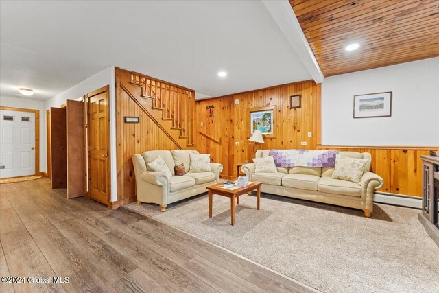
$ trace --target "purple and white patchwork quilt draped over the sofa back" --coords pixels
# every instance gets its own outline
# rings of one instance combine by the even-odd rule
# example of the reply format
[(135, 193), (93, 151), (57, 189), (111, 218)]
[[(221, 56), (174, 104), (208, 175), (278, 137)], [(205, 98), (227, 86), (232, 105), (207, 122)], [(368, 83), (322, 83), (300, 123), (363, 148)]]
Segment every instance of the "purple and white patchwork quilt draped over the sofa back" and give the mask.
[(270, 150), (276, 167), (334, 167), (336, 150)]

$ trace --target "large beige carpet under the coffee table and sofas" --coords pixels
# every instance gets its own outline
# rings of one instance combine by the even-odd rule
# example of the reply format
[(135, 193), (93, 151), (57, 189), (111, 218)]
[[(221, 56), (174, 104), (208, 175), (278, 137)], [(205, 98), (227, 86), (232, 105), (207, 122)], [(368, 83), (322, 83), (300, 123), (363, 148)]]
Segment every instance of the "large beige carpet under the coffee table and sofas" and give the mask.
[(235, 226), (230, 200), (206, 195), (168, 205), (127, 204), (322, 292), (438, 292), (439, 248), (418, 222), (420, 211), (375, 204), (362, 211), (263, 194), (241, 196)]

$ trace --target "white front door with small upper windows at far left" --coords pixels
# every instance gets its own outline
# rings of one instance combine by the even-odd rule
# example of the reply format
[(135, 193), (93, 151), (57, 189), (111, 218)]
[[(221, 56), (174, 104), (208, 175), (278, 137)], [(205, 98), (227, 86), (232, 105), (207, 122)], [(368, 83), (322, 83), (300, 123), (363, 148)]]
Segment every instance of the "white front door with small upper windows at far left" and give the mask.
[(35, 113), (0, 110), (0, 178), (35, 174)]

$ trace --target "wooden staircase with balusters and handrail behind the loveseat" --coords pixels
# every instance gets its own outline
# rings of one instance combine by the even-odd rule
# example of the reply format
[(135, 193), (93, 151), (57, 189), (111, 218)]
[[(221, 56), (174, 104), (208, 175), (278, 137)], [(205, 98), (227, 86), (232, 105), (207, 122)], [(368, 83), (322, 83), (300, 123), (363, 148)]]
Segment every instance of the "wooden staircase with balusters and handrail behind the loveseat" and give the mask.
[(195, 91), (134, 72), (130, 75), (130, 84), (141, 87), (141, 97), (132, 98), (174, 143), (180, 148), (193, 148)]

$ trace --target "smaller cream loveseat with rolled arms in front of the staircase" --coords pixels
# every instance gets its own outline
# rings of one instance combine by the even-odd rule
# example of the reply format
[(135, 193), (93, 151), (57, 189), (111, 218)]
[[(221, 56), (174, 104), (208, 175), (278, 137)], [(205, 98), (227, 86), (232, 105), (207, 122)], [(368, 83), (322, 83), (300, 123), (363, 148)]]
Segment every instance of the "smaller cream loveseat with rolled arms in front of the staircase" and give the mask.
[[(206, 186), (219, 182), (221, 164), (211, 163), (212, 172), (189, 172), (191, 153), (198, 154), (195, 150), (152, 150), (134, 154), (132, 163), (136, 175), (137, 204), (156, 203), (160, 204), (161, 211), (166, 211), (167, 204), (202, 194), (206, 192)], [(169, 167), (172, 174), (170, 180), (162, 172), (148, 170), (147, 163), (154, 161), (157, 156), (161, 156)], [(182, 163), (187, 173), (176, 176), (174, 167)]]

